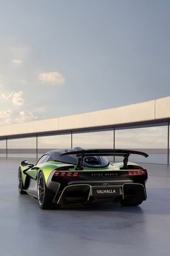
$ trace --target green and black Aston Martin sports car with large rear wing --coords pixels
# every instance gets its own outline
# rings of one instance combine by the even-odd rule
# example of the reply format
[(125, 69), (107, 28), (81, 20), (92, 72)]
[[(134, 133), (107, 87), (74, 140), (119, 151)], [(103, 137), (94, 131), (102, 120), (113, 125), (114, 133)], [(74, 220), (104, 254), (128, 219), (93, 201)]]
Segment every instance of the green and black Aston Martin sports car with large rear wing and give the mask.
[[(146, 200), (146, 169), (128, 161), (134, 150), (82, 148), (52, 150), (34, 165), (22, 161), (18, 173), (20, 194), (37, 198), (42, 209), (87, 202), (120, 202), (140, 205)], [(106, 158), (107, 156), (107, 158)], [(110, 163), (108, 158), (122, 156)]]

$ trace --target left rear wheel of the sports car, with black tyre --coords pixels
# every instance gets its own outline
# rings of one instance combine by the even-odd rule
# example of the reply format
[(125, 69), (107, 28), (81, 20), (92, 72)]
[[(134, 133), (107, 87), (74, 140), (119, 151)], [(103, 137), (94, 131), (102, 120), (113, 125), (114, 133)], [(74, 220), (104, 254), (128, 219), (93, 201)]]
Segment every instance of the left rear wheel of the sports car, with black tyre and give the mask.
[(53, 209), (53, 193), (50, 192), (46, 185), (44, 175), (42, 171), (38, 174), (37, 177), (37, 200), (41, 209)]

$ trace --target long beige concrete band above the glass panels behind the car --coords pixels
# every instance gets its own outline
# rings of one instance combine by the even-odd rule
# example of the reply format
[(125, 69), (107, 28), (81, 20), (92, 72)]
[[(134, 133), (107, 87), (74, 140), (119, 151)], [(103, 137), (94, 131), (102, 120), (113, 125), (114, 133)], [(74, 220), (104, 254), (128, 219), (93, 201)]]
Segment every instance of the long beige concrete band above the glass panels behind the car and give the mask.
[(124, 126), (164, 120), (170, 120), (170, 97), (85, 114), (7, 125), (0, 127), (0, 139), (8, 136)]

